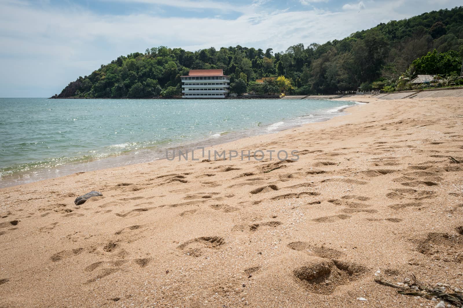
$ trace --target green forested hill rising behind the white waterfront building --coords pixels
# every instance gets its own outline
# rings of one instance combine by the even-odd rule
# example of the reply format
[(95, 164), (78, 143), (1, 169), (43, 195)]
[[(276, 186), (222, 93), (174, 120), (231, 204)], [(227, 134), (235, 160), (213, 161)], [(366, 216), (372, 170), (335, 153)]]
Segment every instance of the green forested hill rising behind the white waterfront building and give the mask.
[[(284, 90), (295, 94), (331, 94), (355, 91), (357, 87), (391, 90), (400, 89), (399, 81), (403, 80), (404, 72), (410, 72), (417, 58), (425, 56), (422, 61), (436, 62), (432, 64), (433, 72), (426, 72), (424, 62), (421, 63), (419, 74), (459, 75), (462, 55), (463, 6), (460, 6), (390, 21), (322, 45), (299, 43), (285, 52), (239, 45), (194, 52), (165, 46), (146, 49), (144, 53), (121, 55), (101, 65), (90, 75), (69, 83), (57, 97), (171, 96), (181, 93), (180, 76), (187, 75), (189, 69), (211, 68), (222, 68), (231, 77), (235, 92), (245, 92), (246, 86), (248, 91)], [(286, 77), (281, 80), (286, 80), (287, 86), (282, 89), (266, 84), (263, 89), (253, 82), (274, 76)]]

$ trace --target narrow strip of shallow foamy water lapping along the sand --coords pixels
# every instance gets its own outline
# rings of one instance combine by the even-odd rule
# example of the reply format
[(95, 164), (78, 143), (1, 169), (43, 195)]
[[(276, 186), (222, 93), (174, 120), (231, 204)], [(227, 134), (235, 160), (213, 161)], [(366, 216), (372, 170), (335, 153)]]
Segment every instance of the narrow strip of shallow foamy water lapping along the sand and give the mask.
[[(341, 101), (344, 101), (344, 100), (341, 100)], [(360, 103), (354, 100), (350, 100), (346, 102), (352, 102), (356, 104)], [(247, 132), (247, 130), (243, 130), (243, 131), (238, 131), (238, 132), (232, 132), (231, 134), (220, 135), (217, 138), (213, 138), (213, 136), (210, 136), (207, 139), (190, 141), (185, 144), (174, 145), (173, 147), (143, 148), (140, 150), (131, 150), (127, 152), (122, 152), (119, 155), (108, 156), (104, 158), (90, 159), (90, 160), (81, 161), (81, 162), (69, 162), (69, 163), (65, 163), (63, 166), (57, 166), (57, 167), (51, 168), (55, 170), (54, 174), (58, 174), (58, 176), (49, 177), (48, 174), (50, 173), (44, 173), (46, 172), (46, 170), (50, 170), (50, 168), (37, 169), (31, 172), (22, 172), (21, 174), (14, 173), (11, 175), (3, 176), (3, 179), (0, 180), (0, 189), (14, 187), (18, 185), (30, 184), (30, 183), (34, 183), (34, 182), (38, 182), (42, 180), (47, 180), (47, 179), (57, 179), (57, 178), (67, 176), (67, 175), (77, 173), (77, 172), (93, 172), (93, 171), (99, 171), (99, 170), (104, 170), (104, 169), (118, 168), (122, 166), (131, 166), (134, 164), (143, 164), (143, 163), (153, 162), (157, 160), (164, 160), (165, 155), (163, 153), (167, 153), (168, 150), (185, 150), (186, 149), (188, 151), (190, 149), (210, 148), (210, 147), (219, 146), (221, 144), (225, 144), (228, 142), (238, 141), (242, 138), (274, 134), (274, 133), (277, 133), (277, 132), (280, 132), (286, 129), (292, 129), (292, 128), (300, 127), (300, 126), (310, 124), (310, 123), (324, 122), (334, 117), (343, 116), (344, 110), (349, 108), (350, 106), (341, 106), (341, 107), (343, 108), (341, 109), (334, 108), (334, 109), (328, 110), (328, 112), (332, 112), (333, 110), (336, 109), (336, 112), (332, 112), (331, 117), (322, 118), (319, 120), (315, 120), (313, 122), (303, 123), (303, 124), (289, 125), (288, 123), (289, 126), (282, 127), (281, 129), (276, 127), (275, 130), (269, 130), (269, 131), (265, 130), (265, 128), (268, 129), (272, 125), (275, 125), (276, 123), (280, 123), (280, 122), (270, 123), (270, 124), (264, 125), (261, 129), (254, 129), (255, 134), (251, 134), (250, 136), (245, 136), (244, 133)], [(151, 159), (150, 157), (154, 157), (154, 159)], [(39, 176), (42, 177), (42, 179), (35, 179), (31, 181), (26, 181), (26, 182), (24, 182), (24, 180), (21, 180), (23, 178), (30, 178), (31, 175), (33, 174), (35, 174), (36, 176), (37, 174), (41, 174)], [(16, 184), (14, 183), (15, 181), (19, 181), (20, 183)], [(4, 183), (7, 183), (7, 184), (4, 185)]]

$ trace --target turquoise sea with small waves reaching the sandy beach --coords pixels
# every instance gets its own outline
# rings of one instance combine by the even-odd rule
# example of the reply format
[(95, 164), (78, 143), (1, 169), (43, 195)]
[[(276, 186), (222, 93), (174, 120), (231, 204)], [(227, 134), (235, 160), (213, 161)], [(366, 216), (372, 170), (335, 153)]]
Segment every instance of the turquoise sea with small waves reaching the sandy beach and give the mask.
[(0, 187), (152, 161), (340, 115), (301, 99), (0, 99)]

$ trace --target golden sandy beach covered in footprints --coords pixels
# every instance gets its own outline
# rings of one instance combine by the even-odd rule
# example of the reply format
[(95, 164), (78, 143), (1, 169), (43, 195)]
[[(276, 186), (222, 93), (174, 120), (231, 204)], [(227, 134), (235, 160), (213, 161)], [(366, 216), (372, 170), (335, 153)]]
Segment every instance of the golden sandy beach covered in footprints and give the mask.
[(0, 307), (435, 307), (375, 282), (463, 287), (463, 98), (426, 95), (212, 147), (299, 160), (1, 189)]

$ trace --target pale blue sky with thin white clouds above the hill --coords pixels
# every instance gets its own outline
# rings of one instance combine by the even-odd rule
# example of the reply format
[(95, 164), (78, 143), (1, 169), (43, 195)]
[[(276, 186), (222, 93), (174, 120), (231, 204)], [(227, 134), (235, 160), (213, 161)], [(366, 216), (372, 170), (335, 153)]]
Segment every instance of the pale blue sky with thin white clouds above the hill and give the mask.
[(0, 0), (0, 97), (50, 97), (157, 46), (284, 51), (461, 0)]

